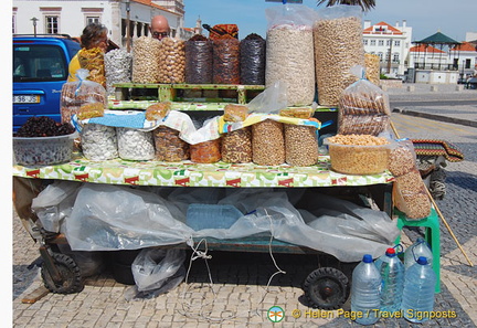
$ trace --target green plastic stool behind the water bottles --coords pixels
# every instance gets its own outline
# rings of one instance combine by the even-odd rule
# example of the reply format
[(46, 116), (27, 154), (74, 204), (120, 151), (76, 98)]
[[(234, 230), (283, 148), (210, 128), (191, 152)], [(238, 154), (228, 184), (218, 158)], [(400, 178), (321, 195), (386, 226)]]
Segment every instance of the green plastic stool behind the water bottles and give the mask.
[[(424, 226), (424, 239), (431, 246), (433, 253), (433, 269), (436, 274), (435, 293), (441, 293), (441, 230), (439, 218), (434, 208), (431, 209), (431, 214), (422, 220), (407, 220), (406, 215), (394, 209), (394, 214), (398, 215), (398, 228), (402, 231), (403, 226)], [(400, 243), (401, 234), (396, 239), (396, 244)]]

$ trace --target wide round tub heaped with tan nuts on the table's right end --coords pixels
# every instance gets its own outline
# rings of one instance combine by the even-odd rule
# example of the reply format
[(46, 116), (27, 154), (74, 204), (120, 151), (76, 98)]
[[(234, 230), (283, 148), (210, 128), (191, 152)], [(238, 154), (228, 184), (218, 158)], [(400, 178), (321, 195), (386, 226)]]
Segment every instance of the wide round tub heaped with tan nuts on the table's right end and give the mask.
[(390, 142), (370, 135), (337, 135), (325, 139), (331, 169), (346, 174), (378, 174), (388, 168)]

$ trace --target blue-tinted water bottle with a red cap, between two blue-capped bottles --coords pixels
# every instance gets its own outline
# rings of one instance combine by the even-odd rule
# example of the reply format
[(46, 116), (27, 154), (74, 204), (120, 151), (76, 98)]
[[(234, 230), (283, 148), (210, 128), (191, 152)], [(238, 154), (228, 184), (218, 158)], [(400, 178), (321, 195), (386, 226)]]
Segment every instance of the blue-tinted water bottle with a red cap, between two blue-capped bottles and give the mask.
[(375, 263), (382, 278), (381, 313), (392, 314), (401, 309), (404, 287), (404, 264), (394, 248), (388, 248)]

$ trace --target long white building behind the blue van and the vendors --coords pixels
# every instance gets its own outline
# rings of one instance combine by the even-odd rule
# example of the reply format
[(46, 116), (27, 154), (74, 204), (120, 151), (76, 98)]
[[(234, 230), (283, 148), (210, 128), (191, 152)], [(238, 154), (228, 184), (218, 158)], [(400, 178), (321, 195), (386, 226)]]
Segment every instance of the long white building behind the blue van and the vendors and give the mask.
[(183, 25), (183, 0), (13, 0), (12, 7), (13, 34), (80, 36), (89, 22), (100, 22), (108, 28), (109, 39), (124, 46), (129, 8), (132, 43), (136, 38), (149, 35), (151, 18), (157, 14), (169, 20), (172, 36), (191, 36)]

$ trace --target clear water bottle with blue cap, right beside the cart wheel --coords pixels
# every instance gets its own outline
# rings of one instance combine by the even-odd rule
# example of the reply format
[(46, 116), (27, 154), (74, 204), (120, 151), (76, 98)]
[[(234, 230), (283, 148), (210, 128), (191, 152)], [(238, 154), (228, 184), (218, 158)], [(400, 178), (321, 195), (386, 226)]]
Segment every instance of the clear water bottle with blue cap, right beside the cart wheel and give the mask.
[(351, 278), (351, 311), (358, 324), (372, 325), (379, 320), (380, 292), (381, 275), (372, 256), (365, 254)]

